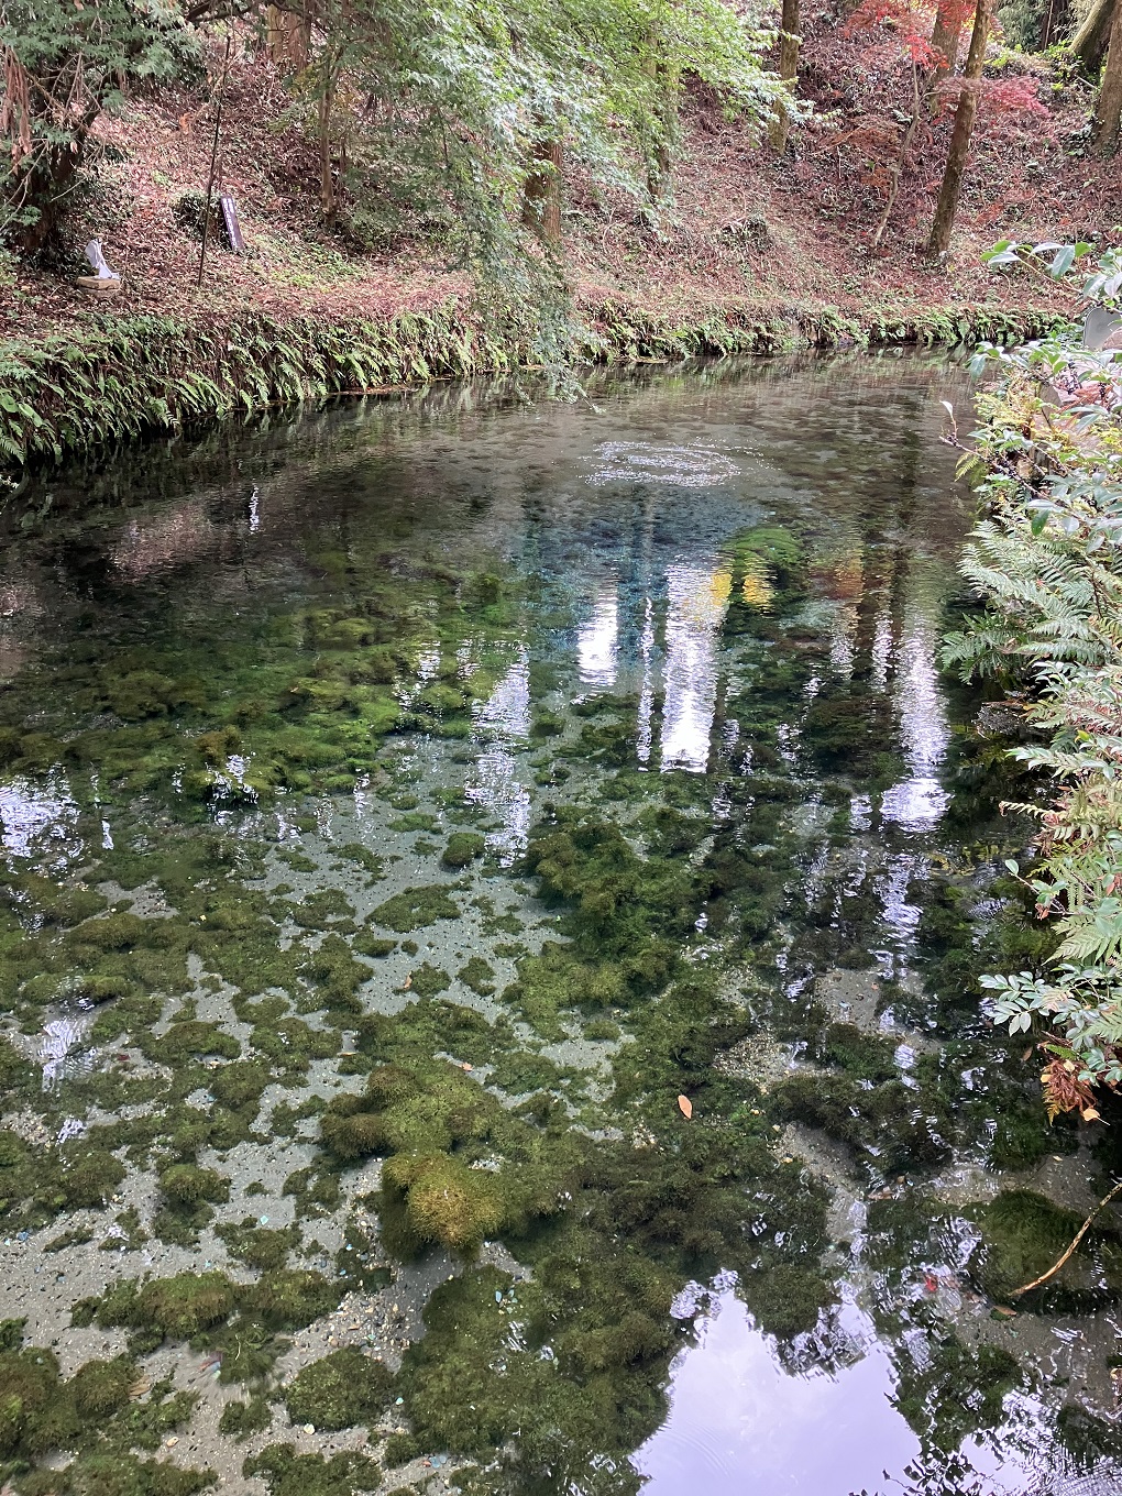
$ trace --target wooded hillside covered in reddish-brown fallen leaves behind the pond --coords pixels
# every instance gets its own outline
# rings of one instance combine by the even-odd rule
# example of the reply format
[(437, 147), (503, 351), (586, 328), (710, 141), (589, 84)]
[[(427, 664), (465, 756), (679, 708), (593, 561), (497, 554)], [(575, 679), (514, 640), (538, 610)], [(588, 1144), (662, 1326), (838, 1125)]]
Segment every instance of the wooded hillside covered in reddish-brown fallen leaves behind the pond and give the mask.
[[(129, 313), (386, 317), (473, 287), (694, 320), (1047, 301), (1023, 274), (1001, 284), (980, 251), (1109, 239), (1118, 120), (1113, 136), (1095, 120), (1110, 7), (1080, 55), (1079, 13), (1034, 3), (865, 0), (799, 18), (788, 0), (797, 33), (720, 0), (667, 24), (625, 6), (416, 7), (392, 36), (329, 6), (154, 6), (139, 24), (109, 4), (96, 55), (79, 4), (40, 7), (22, 31), (9, 6), (3, 331)], [(963, 81), (983, 12), (981, 76)], [(963, 102), (953, 238), (932, 254)], [(111, 307), (73, 284), (90, 238), (121, 277)]]

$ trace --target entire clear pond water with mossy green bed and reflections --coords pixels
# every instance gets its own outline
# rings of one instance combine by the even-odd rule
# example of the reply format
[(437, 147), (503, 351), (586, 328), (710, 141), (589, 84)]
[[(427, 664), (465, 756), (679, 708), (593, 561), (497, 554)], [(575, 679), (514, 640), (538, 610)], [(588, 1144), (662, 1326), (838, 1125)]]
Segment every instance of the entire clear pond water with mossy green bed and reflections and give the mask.
[(1104, 1164), (980, 1004), (966, 374), (545, 393), (0, 515), (0, 1474), (1122, 1493), (1118, 1233), (1011, 1308)]

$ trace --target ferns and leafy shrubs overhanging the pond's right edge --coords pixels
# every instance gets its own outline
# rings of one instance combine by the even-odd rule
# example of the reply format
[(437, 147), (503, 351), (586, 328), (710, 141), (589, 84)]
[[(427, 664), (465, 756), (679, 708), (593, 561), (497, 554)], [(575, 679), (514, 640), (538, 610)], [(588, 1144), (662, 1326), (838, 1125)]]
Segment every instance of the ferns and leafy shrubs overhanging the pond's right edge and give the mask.
[[(1071, 278), (1089, 245), (1002, 244), (990, 262), (1049, 260)], [(1118, 310), (1122, 256), (1107, 250), (1082, 295)], [(999, 355), (1005, 377), (983, 396), (966, 467), (981, 476), (987, 516), (963, 573), (984, 612), (951, 634), (944, 660), (965, 678), (1014, 693), (1034, 741), (1013, 749), (1059, 784), (1047, 805), (1011, 806), (1040, 824), (1040, 866), (1026, 878), (1037, 913), (1055, 917), (1050, 971), (989, 975), (995, 1019), (1052, 1031), (1049, 1112), (1097, 1116), (1092, 1088), (1122, 1083), (1122, 352), (1088, 352), (1074, 332)], [(1067, 396), (1067, 410), (1046, 401)], [(1016, 862), (1008, 863), (1020, 875)]]

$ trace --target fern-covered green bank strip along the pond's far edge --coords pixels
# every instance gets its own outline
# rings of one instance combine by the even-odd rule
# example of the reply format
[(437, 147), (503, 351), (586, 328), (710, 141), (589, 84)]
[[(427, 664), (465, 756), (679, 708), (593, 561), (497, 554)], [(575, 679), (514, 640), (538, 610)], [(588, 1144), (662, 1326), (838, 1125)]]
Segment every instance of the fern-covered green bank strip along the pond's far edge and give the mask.
[(543, 365), (778, 353), (845, 344), (1011, 343), (1044, 332), (1040, 307), (871, 307), (863, 314), (727, 307), (673, 320), (604, 304), (545, 326), (449, 301), (381, 320), (106, 316), (79, 335), (0, 344), (0, 461), (21, 467), (142, 435), (197, 429), (268, 405), (384, 393)]

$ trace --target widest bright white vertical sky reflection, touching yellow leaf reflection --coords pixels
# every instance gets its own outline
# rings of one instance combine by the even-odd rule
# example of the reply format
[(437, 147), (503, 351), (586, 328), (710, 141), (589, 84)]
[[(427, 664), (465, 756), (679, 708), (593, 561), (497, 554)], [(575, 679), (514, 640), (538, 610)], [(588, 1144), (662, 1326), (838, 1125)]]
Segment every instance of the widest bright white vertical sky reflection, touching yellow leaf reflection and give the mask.
[(729, 604), (727, 571), (675, 564), (666, 576), (663, 767), (703, 773), (717, 705), (717, 633)]

